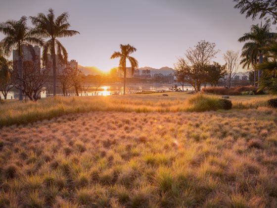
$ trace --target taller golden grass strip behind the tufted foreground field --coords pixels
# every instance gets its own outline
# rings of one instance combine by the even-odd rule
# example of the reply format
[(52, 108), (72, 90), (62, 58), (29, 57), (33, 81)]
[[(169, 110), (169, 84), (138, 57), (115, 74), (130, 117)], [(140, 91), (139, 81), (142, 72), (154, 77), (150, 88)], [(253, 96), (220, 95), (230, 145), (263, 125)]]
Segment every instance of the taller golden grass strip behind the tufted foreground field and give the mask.
[[(50, 119), (69, 113), (90, 111), (123, 112), (179, 112), (215, 110), (219, 96), (191, 95), (187, 93), (168, 93), (155, 95), (127, 95), (108, 97), (56, 97), (34, 102), (7, 102), (0, 105), (0, 128), (13, 124), (27, 124), (37, 120)], [(190, 99), (201, 97), (209, 99), (206, 104), (191, 104)], [(249, 109), (265, 106), (269, 96), (233, 96), (234, 109)], [(199, 105), (200, 104), (200, 105)]]

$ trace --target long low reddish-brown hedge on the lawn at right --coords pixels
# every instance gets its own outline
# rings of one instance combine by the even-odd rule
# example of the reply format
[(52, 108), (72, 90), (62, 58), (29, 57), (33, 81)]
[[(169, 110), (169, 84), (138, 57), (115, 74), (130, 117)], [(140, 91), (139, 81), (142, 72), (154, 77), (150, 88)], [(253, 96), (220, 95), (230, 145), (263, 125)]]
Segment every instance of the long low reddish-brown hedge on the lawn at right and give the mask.
[(264, 94), (263, 91), (259, 91), (253, 86), (241, 86), (241, 87), (207, 87), (203, 88), (202, 92), (211, 93), (216, 95), (260, 95)]

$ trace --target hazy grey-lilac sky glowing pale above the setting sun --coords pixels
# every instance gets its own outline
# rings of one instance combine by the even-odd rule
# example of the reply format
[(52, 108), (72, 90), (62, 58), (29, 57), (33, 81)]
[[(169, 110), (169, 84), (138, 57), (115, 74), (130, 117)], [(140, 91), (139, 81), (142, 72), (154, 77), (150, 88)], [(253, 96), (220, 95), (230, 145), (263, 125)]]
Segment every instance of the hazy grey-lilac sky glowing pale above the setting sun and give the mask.
[[(215, 61), (224, 63), (226, 50), (240, 51), (237, 39), (253, 22), (234, 9), (232, 0), (0, 0), (0, 21), (18, 20), (53, 8), (70, 14), (71, 28), (80, 32), (60, 39), (84, 66), (109, 70), (118, 65), (110, 55), (119, 44), (131, 44), (139, 67), (173, 67), (176, 57), (200, 40), (216, 43)], [(31, 26), (31, 23), (30, 23)], [(276, 27), (273, 26), (273, 31)], [(3, 35), (0, 34), (0, 39)]]

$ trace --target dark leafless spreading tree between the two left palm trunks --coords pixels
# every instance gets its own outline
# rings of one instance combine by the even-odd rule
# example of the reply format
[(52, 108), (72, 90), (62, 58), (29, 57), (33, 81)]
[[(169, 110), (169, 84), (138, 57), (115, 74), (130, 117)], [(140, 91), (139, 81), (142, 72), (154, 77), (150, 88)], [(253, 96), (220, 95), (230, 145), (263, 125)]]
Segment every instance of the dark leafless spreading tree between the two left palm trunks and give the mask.
[(17, 63), (14, 62), (15, 88), (22, 92), (31, 100), (40, 99), (44, 85), (49, 81), (48, 70), (41, 68), (38, 61), (23, 62), (23, 76), (19, 76)]

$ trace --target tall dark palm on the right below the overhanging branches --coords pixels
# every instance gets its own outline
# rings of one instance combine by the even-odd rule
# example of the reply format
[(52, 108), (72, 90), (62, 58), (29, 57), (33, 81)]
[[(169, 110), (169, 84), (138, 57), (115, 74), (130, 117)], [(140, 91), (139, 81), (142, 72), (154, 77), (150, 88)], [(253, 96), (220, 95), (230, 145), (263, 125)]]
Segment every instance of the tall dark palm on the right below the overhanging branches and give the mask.
[[(253, 51), (258, 51), (259, 55), (259, 63), (263, 63), (263, 55), (264, 51), (262, 50), (263, 47), (268, 46), (268, 44), (272, 43), (277, 37), (277, 33), (270, 32), (270, 23), (267, 22), (262, 26), (252, 25), (250, 27), (249, 33), (244, 33), (242, 37), (238, 39), (238, 42), (246, 42), (245, 44), (249, 44), (249, 46), (245, 46), (245, 48), (252, 48)], [(262, 76), (262, 71), (258, 71), (258, 81)]]

